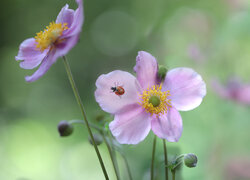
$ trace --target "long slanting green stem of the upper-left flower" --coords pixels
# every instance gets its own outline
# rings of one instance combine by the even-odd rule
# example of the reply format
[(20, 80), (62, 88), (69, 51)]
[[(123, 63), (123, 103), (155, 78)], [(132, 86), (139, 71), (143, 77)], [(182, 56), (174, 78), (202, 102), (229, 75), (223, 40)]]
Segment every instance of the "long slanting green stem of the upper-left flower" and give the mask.
[(71, 72), (69, 63), (68, 63), (68, 61), (67, 61), (67, 59), (66, 59), (65, 56), (63, 56), (63, 63), (64, 63), (64, 66), (65, 66), (65, 69), (66, 69), (66, 72), (67, 72), (67, 75), (68, 75), (68, 78), (69, 78), (69, 81), (70, 81), (72, 90), (73, 90), (73, 92), (74, 92), (76, 101), (77, 101), (77, 103), (78, 103), (78, 105), (79, 105), (79, 107), (80, 107), (80, 109), (81, 109), (81, 112), (82, 112), (82, 115), (83, 115), (84, 122), (85, 122), (85, 124), (86, 124), (87, 129), (88, 129), (88, 133), (89, 133), (90, 138), (91, 138), (91, 140), (92, 140), (92, 142), (93, 142), (93, 145), (94, 145), (94, 148), (95, 148), (97, 157), (98, 157), (98, 159), (99, 159), (99, 162), (100, 162), (100, 165), (101, 165), (103, 174), (104, 174), (104, 176), (105, 176), (105, 179), (108, 180), (109, 177), (108, 177), (107, 171), (106, 171), (106, 169), (105, 169), (105, 166), (104, 166), (104, 163), (103, 163), (101, 154), (100, 154), (100, 152), (99, 152), (99, 150), (98, 150), (98, 147), (97, 147), (97, 145), (96, 145), (96, 143), (95, 143), (95, 140), (94, 140), (92, 131), (91, 131), (91, 129), (90, 129), (89, 122), (88, 122), (88, 120), (87, 120), (87, 116), (86, 116), (86, 113), (85, 113), (85, 110), (84, 110), (84, 107), (83, 107), (83, 104), (82, 104), (80, 95), (79, 95), (79, 93), (78, 93), (78, 90), (77, 90), (75, 81), (74, 81), (74, 79), (73, 79), (73, 75), (72, 75), (72, 72)]

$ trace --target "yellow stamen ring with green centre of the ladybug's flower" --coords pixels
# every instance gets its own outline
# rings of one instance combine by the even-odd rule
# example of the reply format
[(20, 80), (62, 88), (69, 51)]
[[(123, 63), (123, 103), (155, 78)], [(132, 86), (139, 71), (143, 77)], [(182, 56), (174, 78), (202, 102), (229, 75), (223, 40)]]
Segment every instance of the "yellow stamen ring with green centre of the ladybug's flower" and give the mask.
[(169, 91), (161, 91), (161, 85), (154, 85), (143, 91), (141, 96), (141, 102), (139, 103), (146, 112), (150, 113), (151, 116), (155, 114), (159, 116), (164, 114), (171, 108), (171, 100), (168, 99), (170, 96)]

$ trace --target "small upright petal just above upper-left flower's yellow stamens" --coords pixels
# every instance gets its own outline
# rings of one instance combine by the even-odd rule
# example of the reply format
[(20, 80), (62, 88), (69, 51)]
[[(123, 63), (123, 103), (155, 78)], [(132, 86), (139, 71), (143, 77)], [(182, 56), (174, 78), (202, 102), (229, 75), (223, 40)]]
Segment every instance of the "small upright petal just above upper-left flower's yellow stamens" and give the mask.
[(69, 9), (69, 5), (66, 4), (59, 12), (56, 18), (56, 23), (67, 23), (67, 26), (70, 27), (74, 19), (74, 12), (75, 11)]

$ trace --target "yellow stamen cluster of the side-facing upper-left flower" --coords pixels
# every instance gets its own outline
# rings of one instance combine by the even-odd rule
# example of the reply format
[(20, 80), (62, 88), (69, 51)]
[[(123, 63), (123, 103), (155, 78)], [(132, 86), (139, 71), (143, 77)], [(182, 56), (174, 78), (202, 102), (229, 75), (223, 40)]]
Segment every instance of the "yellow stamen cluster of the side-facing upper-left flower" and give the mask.
[(66, 29), (68, 29), (67, 23), (56, 24), (55, 22), (51, 22), (49, 26), (46, 26), (46, 29), (36, 33), (36, 47), (40, 49), (40, 51), (44, 51), (44, 49), (47, 49), (50, 45), (60, 42), (59, 37)]

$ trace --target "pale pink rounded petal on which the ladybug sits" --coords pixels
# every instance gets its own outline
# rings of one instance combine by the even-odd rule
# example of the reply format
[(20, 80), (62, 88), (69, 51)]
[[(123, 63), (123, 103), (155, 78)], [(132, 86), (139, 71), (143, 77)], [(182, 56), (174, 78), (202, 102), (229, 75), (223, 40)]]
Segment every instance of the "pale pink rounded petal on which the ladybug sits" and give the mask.
[[(125, 93), (118, 96), (111, 87), (122, 86)], [(101, 108), (109, 113), (117, 113), (126, 106), (139, 102), (139, 85), (136, 78), (125, 71), (112, 71), (103, 74), (96, 80), (95, 98)]]

